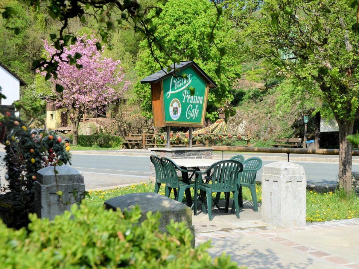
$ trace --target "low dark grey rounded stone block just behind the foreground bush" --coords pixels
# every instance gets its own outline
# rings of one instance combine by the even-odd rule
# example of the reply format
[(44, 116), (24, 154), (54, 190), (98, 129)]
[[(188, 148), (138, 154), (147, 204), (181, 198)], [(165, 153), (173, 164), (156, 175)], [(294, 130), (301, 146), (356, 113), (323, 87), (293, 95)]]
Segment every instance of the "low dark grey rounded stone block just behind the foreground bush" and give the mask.
[(171, 223), (171, 220), (174, 222), (185, 222), (186, 226), (192, 231), (192, 246), (195, 245), (192, 210), (190, 207), (176, 200), (159, 195), (158, 193), (130, 193), (108, 199), (104, 202), (104, 205), (106, 209), (116, 210), (120, 208), (122, 211), (124, 209), (129, 210), (138, 205), (142, 211), (139, 223), (146, 220), (147, 212), (159, 212), (161, 214), (161, 218), (159, 219), (159, 230), (161, 232), (167, 231), (166, 226)]

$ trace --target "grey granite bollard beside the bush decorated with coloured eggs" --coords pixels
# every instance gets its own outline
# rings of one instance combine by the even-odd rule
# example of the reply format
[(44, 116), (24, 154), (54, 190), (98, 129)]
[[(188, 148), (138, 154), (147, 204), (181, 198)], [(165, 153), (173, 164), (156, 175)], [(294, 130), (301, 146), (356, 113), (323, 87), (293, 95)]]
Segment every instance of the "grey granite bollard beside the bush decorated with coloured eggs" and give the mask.
[[(54, 166), (45, 167), (37, 171), (35, 181), (35, 213), (39, 218), (53, 220), (56, 215), (61, 215), (65, 210), (70, 210), (71, 205), (81, 200), (81, 194), (85, 191), (84, 177), (76, 169), (61, 165), (56, 166), (58, 172), (55, 179)], [(76, 198), (74, 190), (76, 189)], [(61, 190), (60, 196), (56, 193)], [(69, 202), (69, 203), (67, 203)]]

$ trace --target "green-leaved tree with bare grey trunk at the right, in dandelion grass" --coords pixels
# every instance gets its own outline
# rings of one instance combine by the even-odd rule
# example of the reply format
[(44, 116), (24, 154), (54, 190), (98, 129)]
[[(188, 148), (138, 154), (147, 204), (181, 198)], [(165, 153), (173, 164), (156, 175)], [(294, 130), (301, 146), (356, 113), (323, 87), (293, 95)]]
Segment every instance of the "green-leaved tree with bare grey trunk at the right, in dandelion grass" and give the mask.
[(268, 0), (242, 30), (250, 37), (249, 55), (265, 58), (330, 106), (339, 124), (339, 186), (346, 193), (352, 166), (346, 137), (359, 116), (358, 20), (358, 0)]

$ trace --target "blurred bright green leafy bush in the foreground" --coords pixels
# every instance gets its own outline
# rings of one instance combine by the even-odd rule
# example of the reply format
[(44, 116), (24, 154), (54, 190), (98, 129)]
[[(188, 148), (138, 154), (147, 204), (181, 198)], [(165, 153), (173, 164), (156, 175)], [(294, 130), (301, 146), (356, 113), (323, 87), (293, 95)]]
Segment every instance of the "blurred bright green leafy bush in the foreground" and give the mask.
[(225, 255), (213, 263), (209, 242), (192, 248), (185, 223), (160, 233), (159, 213), (136, 225), (139, 207), (122, 213), (81, 204), (71, 212), (53, 221), (30, 214), (28, 231), (0, 222), (1, 268), (237, 268)]

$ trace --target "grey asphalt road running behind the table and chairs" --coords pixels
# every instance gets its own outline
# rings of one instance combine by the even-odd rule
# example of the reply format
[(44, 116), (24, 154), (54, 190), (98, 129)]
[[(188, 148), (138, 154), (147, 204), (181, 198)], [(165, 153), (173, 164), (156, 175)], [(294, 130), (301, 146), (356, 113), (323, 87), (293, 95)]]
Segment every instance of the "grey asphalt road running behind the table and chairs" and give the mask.
[[(0, 157), (4, 152), (0, 152)], [(263, 161), (263, 165), (273, 161)], [(297, 162), (306, 171), (309, 183), (317, 185), (336, 185), (338, 180), (338, 165), (331, 163)], [(118, 176), (118, 180), (128, 178), (148, 178), (149, 157), (118, 156), (118, 155), (81, 155), (73, 154), (71, 166), (81, 172), (92, 174)], [(353, 164), (353, 171), (359, 171), (359, 164)], [(262, 169), (257, 173), (257, 180), (261, 179)], [(120, 182), (119, 182), (120, 183)]]

